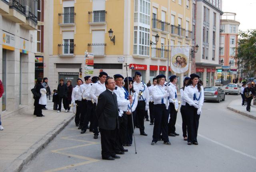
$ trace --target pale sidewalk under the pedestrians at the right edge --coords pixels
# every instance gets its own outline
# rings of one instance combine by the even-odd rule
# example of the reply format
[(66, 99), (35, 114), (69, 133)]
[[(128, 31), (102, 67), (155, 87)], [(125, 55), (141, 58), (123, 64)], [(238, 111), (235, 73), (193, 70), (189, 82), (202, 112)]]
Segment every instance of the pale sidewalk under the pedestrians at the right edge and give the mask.
[(232, 110), (234, 112), (237, 112), (244, 116), (248, 116), (249, 118), (256, 120), (256, 106), (254, 106), (252, 104), (253, 104), (253, 100), (251, 103), (251, 111), (250, 112), (246, 111), (246, 106), (242, 106), (242, 99), (233, 100), (232, 102), (230, 102), (230, 104), (228, 105), (227, 108), (229, 110)]

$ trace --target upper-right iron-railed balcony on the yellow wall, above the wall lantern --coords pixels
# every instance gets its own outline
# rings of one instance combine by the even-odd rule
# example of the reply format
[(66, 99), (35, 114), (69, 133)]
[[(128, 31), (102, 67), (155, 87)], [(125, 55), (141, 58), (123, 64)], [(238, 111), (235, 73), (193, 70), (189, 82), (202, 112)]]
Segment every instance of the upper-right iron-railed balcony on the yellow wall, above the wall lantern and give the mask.
[(106, 14), (105, 10), (100, 11), (89, 11), (88, 12), (88, 24), (90, 25), (105, 25), (106, 22)]

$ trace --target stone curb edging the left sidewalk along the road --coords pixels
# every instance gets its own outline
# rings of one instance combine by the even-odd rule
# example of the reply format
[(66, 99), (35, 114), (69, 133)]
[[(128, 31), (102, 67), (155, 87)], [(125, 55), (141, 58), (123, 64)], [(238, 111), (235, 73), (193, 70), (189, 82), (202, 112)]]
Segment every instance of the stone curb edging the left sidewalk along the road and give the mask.
[(56, 126), (52, 131), (44, 135), (40, 140), (38, 140), (33, 146), (31, 146), (26, 152), (21, 154), (16, 158), (10, 166), (8, 166), (4, 172), (19, 172), (24, 165), (28, 164), (32, 158), (34, 158), (42, 149), (44, 149), (47, 144), (52, 141), (57, 134), (59, 134), (74, 118), (72, 115), (70, 118), (66, 118), (58, 126)]

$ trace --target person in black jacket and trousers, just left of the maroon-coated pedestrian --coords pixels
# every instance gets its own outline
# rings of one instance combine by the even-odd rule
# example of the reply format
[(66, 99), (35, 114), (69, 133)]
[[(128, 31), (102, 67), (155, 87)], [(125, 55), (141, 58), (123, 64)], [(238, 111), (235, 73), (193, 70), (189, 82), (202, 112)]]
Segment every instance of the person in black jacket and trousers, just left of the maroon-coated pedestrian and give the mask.
[(58, 91), (58, 97), (59, 97), (59, 104), (58, 104), (58, 111), (61, 112), (61, 103), (63, 101), (63, 106), (66, 112), (68, 112), (68, 107), (67, 107), (67, 98), (68, 98), (68, 86), (64, 84), (64, 80), (60, 79), (60, 84), (58, 85), (57, 88)]

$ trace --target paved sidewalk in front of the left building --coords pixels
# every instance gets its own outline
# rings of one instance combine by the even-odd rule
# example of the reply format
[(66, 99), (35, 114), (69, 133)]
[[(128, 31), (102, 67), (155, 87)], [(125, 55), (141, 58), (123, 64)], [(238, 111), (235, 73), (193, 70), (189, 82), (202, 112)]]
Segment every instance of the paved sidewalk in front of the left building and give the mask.
[(43, 110), (44, 117), (36, 117), (29, 110), (2, 119), (0, 172), (18, 172), (74, 118), (71, 111), (48, 109)]

